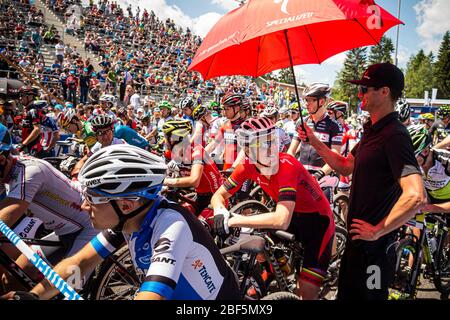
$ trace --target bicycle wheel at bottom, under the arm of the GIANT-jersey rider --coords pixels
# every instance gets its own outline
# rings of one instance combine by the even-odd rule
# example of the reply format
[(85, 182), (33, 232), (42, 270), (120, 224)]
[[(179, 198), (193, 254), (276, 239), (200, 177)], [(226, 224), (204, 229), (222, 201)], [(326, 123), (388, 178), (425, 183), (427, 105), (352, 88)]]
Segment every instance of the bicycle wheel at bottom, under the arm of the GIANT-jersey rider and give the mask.
[(91, 297), (95, 300), (133, 300), (139, 290), (141, 281), (131, 261), (128, 246), (123, 246), (114, 254), (114, 260), (120, 263), (121, 269), (111, 260), (106, 260), (98, 270), (92, 286)]

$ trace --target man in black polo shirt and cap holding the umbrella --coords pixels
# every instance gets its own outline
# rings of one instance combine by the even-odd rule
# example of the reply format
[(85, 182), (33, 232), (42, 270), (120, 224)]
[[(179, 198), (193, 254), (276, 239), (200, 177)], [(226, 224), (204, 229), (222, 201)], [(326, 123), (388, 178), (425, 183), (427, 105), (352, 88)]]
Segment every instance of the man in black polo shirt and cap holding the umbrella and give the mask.
[(425, 201), (411, 138), (394, 111), (404, 88), (403, 73), (390, 63), (370, 66), (359, 85), (362, 109), (370, 120), (361, 141), (343, 157), (306, 127), (319, 155), (340, 174), (353, 174), (347, 225), (349, 239), (341, 261), (338, 299), (387, 299), (394, 277), (396, 230)]

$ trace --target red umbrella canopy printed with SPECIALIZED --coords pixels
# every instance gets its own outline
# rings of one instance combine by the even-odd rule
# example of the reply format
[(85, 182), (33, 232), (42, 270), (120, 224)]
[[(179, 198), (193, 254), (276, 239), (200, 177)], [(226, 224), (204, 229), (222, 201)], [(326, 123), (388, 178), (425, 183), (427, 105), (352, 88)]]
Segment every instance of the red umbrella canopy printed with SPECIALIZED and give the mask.
[(288, 46), (293, 65), (321, 63), (399, 23), (373, 0), (249, 0), (216, 23), (189, 70), (258, 77), (291, 65)]

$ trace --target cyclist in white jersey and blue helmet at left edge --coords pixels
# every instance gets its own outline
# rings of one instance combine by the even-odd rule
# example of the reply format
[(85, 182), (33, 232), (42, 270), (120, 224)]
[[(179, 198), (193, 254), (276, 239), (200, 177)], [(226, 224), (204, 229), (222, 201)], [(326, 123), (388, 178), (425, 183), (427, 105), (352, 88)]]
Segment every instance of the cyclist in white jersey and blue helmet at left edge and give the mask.
[[(0, 219), (14, 229), (26, 214), (40, 219), (46, 229), (54, 232), (50, 239), (63, 243), (62, 251), (49, 252), (52, 248), (40, 248), (39, 253), (51, 264), (68, 257), (88, 243), (96, 231), (89, 215), (81, 208), (80, 190), (48, 162), (34, 157), (13, 156), (11, 137), (0, 124), (0, 189), (5, 198), (0, 204)], [(53, 250), (54, 251), (54, 250)], [(24, 256), (17, 264), (34, 280), (40, 279), (37, 269)], [(11, 282), (4, 274), (5, 283)]]

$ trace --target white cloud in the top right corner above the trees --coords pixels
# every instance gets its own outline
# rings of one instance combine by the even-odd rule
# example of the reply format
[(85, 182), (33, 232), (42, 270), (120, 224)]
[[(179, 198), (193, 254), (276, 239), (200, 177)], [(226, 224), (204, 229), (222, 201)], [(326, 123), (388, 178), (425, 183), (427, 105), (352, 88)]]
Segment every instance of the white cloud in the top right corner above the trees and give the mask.
[(450, 29), (450, 1), (448, 0), (421, 0), (414, 6), (417, 14), (418, 26), (416, 32), (422, 39), (426, 52), (439, 49), (442, 35)]

